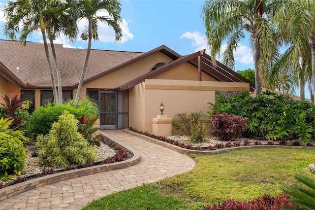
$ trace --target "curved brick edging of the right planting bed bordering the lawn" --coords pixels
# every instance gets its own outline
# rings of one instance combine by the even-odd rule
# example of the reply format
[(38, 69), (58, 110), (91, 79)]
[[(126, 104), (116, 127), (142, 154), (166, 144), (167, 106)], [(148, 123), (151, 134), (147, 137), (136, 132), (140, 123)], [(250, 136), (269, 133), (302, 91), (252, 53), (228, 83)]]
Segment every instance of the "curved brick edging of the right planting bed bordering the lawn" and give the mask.
[(154, 138), (145, 136), (143, 134), (138, 134), (132, 131), (129, 131), (128, 129), (124, 129), (124, 132), (127, 134), (139, 137), (141, 139), (150, 141), (152, 143), (156, 143), (160, 146), (164, 146), (166, 148), (172, 149), (176, 152), (182, 153), (182, 154), (218, 154), (222, 152), (229, 152), (229, 151), (235, 151), (240, 149), (252, 149), (252, 148), (293, 148), (293, 149), (315, 149), (315, 146), (288, 146), (288, 145), (248, 145), (248, 146), (235, 146), (235, 147), (229, 147), (224, 149), (216, 149), (216, 150), (208, 150), (208, 151), (200, 151), (200, 150), (192, 150), (192, 149), (185, 149), (176, 145), (173, 145), (171, 143), (167, 143), (161, 140), (156, 140)]

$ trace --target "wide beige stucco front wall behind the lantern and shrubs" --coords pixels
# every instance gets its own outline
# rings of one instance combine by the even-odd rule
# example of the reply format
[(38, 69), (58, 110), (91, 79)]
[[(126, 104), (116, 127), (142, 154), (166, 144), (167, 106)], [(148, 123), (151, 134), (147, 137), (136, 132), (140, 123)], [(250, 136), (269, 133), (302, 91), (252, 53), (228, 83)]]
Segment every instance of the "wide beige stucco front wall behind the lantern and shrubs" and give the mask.
[[(248, 83), (212, 82), (189, 80), (145, 80), (145, 121), (143, 126), (135, 127), (141, 131), (152, 132), (152, 118), (160, 114), (159, 105), (163, 102), (164, 114), (173, 118), (176, 113), (208, 111), (208, 102), (215, 103), (215, 91), (249, 90)], [(131, 98), (131, 96), (130, 96)], [(131, 110), (130, 112), (131, 113)], [(132, 123), (130, 123), (132, 124)]]

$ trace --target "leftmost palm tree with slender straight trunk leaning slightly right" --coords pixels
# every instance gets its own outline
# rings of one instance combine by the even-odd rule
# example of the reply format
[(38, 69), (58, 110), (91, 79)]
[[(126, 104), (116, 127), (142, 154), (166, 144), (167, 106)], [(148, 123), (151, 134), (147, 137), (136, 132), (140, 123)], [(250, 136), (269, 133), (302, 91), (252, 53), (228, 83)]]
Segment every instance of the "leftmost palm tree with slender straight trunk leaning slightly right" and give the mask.
[[(56, 10), (59, 10), (59, 8), (53, 7), (49, 0), (15, 0), (8, 1), (3, 12), (6, 18), (4, 34), (9, 39), (16, 40), (16, 33), (19, 34), (21, 32), (19, 40), (21, 43), (26, 44), (27, 36), (40, 29), (52, 80), (54, 101), (58, 104), (55, 75), (46, 39), (47, 17), (54, 17)], [(19, 28), (20, 23), (22, 23), (22, 29)], [(52, 23), (54, 22), (52, 21)]]

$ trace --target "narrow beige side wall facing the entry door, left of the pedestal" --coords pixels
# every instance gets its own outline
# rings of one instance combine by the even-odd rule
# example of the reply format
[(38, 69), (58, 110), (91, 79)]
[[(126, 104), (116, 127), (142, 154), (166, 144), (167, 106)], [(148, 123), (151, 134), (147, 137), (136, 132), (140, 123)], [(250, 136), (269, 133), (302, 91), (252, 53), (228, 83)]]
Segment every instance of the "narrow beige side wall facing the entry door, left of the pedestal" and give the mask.
[(129, 126), (140, 131), (145, 130), (145, 101), (144, 82), (129, 89)]

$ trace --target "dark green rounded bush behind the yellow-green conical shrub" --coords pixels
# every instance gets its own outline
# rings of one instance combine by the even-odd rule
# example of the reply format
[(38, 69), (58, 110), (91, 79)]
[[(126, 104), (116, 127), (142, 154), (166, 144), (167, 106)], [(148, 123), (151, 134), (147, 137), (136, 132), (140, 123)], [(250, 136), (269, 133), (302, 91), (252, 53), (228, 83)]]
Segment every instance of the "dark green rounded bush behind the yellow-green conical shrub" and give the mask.
[(33, 112), (31, 119), (26, 126), (27, 135), (35, 140), (38, 135), (48, 134), (52, 124), (58, 121), (59, 116), (64, 110), (73, 114), (76, 118), (89, 113), (89, 111), (83, 107), (76, 108), (67, 104), (47, 104), (40, 106)]

